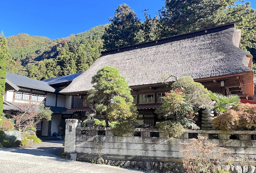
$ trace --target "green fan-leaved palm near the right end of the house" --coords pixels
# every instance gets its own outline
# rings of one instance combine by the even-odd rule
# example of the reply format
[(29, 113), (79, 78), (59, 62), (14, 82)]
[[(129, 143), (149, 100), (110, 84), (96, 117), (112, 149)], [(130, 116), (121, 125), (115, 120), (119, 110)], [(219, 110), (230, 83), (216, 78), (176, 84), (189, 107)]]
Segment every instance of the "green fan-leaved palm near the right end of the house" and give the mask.
[(229, 108), (232, 108), (235, 105), (238, 105), (240, 102), (240, 98), (236, 94), (230, 94), (230, 95), (223, 95), (220, 93), (212, 93), (209, 91), (210, 97), (214, 103), (214, 111), (218, 115), (222, 115), (224, 112), (226, 112)]

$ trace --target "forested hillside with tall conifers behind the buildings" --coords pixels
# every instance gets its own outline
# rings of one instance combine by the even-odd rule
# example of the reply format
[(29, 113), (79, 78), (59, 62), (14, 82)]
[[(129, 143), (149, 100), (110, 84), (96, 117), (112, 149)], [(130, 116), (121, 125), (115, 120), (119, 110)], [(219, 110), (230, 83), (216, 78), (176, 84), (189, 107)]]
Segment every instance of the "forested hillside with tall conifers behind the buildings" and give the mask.
[[(16, 63), (7, 63), (7, 71), (39, 80), (83, 72), (100, 56), (101, 51), (188, 33), (241, 18), (243, 21), (236, 24), (241, 29), (241, 49), (253, 54), (256, 61), (256, 12), (251, 9), (250, 2), (165, 0), (165, 7), (155, 17), (149, 16), (147, 10), (144, 15), (142, 22), (128, 5), (122, 4), (113, 10), (110, 24), (99, 25), (67, 38), (51, 40), (27, 34), (8, 37), (9, 52)], [(256, 65), (253, 67), (256, 68)]]

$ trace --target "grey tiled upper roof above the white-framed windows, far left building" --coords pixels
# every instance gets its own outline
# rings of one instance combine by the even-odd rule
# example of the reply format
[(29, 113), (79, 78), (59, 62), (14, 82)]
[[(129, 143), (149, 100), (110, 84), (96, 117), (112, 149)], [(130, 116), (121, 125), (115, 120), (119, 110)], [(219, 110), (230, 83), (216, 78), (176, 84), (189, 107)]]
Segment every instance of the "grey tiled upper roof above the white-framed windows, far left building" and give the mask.
[(27, 76), (17, 75), (13, 73), (6, 73), (6, 78), (17, 85), (18, 87), (31, 88), (35, 90), (55, 92), (55, 88), (48, 85), (47, 82), (31, 79)]

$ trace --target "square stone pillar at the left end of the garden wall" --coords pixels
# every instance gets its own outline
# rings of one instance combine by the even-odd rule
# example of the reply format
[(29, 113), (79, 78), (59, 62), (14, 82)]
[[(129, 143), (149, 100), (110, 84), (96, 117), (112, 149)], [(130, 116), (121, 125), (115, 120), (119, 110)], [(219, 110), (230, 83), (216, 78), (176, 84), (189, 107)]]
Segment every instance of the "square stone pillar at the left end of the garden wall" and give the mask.
[(78, 125), (77, 119), (67, 119), (66, 122), (66, 131), (65, 131), (65, 146), (64, 153), (70, 153), (71, 160), (76, 159), (75, 153), (75, 142), (76, 142), (76, 127)]

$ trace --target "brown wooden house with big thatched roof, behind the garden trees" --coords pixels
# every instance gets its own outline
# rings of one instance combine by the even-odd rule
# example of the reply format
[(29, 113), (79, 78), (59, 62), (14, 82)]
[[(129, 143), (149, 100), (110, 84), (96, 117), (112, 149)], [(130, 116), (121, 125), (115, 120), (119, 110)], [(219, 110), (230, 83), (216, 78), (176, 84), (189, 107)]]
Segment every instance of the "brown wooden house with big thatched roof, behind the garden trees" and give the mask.
[(83, 98), (82, 107), (70, 111), (86, 111), (87, 91), (93, 86), (91, 79), (99, 69), (109, 65), (118, 68), (128, 82), (139, 111), (138, 119), (143, 123), (154, 125), (160, 121), (154, 111), (175, 81), (171, 76), (191, 76), (213, 92), (238, 94), (252, 100), (252, 55), (240, 49), (240, 37), (241, 31), (233, 22), (102, 52), (89, 69), (60, 93)]

